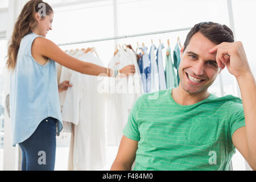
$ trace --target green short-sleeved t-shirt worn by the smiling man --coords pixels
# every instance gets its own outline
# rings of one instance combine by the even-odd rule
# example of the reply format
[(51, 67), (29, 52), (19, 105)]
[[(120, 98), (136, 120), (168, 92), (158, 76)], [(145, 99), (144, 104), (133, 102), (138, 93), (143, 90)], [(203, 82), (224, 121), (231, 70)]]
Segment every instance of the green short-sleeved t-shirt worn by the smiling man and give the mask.
[(138, 141), (134, 170), (229, 170), (232, 135), (242, 126), (240, 98), (210, 94), (184, 106), (170, 88), (139, 97), (123, 134)]

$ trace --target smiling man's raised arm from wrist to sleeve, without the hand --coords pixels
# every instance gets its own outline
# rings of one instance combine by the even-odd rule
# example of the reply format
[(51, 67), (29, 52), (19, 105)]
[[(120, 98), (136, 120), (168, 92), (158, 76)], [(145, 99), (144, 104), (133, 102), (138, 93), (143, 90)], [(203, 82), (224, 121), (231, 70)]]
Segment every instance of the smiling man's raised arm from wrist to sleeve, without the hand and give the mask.
[(253, 170), (256, 170), (256, 83), (251, 72), (237, 77), (241, 90), (245, 127), (232, 136), (234, 146), (240, 151)]

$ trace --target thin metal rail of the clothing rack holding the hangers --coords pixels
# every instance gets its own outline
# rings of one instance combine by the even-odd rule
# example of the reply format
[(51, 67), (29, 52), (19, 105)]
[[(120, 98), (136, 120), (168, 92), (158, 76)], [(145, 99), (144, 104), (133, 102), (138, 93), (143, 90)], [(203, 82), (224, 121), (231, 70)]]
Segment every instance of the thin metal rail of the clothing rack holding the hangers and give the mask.
[(123, 35), (123, 36), (114, 36), (112, 38), (103, 38), (103, 39), (92, 39), (92, 40), (85, 40), (85, 41), (79, 41), (79, 42), (69, 42), (69, 43), (61, 43), (57, 44), (58, 46), (68, 46), (72, 44), (84, 44), (84, 43), (91, 43), (91, 42), (101, 42), (106, 40), (116, 40), (116, 39), (125, 39), (125, 38), (133, 38), (137, 36), (146, 36), (146, 35), (156, 35), (156, 34), (166, 34), (169, 32), (178, 32), (178, 31), (185, 31), (185, 30), (191, 30), (192, 27), (188, 28), (177, 28), (172, 30), (164, 30), (164, 31), (156, 31), (156, 32), (148, 32), (144, 34), (133, 34), (133, 35)]

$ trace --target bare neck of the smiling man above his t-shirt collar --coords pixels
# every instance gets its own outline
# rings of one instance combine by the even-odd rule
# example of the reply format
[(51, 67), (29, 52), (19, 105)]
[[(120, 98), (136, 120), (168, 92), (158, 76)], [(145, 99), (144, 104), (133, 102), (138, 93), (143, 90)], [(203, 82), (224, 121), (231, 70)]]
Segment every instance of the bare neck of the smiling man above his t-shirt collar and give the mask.
[(172, 98), (177, 104), (180, 105), (193, 105), (197, 102), (205, 100), (209, 97), (210, 93), (208, 90), (204, 90), (200, 93), (188, 93), (179, 85), (177, 88), (172, 89)]

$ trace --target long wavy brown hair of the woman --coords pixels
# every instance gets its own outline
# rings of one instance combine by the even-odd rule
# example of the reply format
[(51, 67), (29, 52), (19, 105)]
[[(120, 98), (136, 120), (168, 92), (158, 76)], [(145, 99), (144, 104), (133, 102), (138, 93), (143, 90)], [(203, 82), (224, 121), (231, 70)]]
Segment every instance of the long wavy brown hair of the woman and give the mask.
[[(44, 3), (44, 5), (42, 3)], [(45, 9), (43, 11), (44, 14), (42, 14), (42, 18), (53, 13), (51, 6), (41, 0), (28, 1), (23, 7), (18, 20), (15, 23), (13, 35), (11, 36), (9, 42), (7, 53), (8, 59), (6, 62), (8, 69), (15, 68), (20, 42), (25, 35), (31, 33), (35, 28), (37, 23), (35, 19), (35, 13), (40, 13), (42, 8)]]

